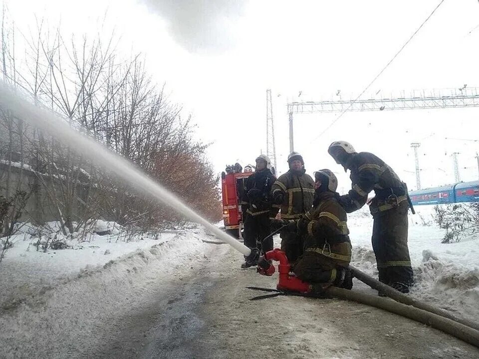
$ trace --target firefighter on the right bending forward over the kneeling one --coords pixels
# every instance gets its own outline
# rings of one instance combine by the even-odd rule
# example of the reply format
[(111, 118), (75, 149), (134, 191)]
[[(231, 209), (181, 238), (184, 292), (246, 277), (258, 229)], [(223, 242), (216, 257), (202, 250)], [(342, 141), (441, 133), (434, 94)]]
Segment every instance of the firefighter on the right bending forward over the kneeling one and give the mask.
[(333, 142), (328, 153), (344, 171), (350, 170), (352, 189), (339, 197), (346, 212), (361, 208), (374, 190), (369, 203), (374, 218), (372, 245), (379, 280), (392, 288), (409, 293), (414, 283), (408, 248), (408, 191), (396, 173), (377, 156), (357, 153), (351, 144)]

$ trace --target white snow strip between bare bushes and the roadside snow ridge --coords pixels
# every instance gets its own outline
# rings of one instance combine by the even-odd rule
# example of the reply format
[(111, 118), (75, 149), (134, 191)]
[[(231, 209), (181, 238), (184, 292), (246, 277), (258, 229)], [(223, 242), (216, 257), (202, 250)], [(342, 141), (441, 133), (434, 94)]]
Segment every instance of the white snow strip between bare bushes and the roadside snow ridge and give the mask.
[[(25, 301), (28, 297), (54, 288), (60, 283), (66, 283), (82, 274), (96, 270), (110, 261), (135, 251), (141, 251), (171, 240), (178, 233), (158, 233), (137, 235), (129, 238), (117, 228), (114, 222), (97, 221), (94, 231), (110, 230), (110, 235), (87, 233), (82, 241), (78, 233), (64, 237), (58, 234), (58, 224), (48, 223), (50, 237), (56, 235), (70, 248), (47, 249), (44, 252), (41, 245), (35, 246), (38, 228), (26, 225), (21, 232), (10, 239), (13, 246), (9, 248), (0, 263), (0, 308), (10, 308)], [(42, 241), (46, 239), (42, 237)]]

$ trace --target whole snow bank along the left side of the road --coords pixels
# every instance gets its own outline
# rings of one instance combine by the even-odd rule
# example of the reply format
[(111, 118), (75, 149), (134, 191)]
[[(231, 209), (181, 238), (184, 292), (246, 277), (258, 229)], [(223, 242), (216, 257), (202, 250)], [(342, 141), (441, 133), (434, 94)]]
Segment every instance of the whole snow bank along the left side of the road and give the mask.
[[(196, 229), (169, 233), (156, 242), (95, 241), (95, 248), (63, 250), (62, 254), (25, 252), (24, 246), (14, 246), (0, 265), (3, 278), (16, 278), (10, 281), (16, 301), (9, 306), (3, 302), (0, 309), (0, 328), (8, 328), (0, 333), (0, 357), (85, 357), (85, 351), (97, 345), (105, 331), (114, 330), (132, 305), (140, 305), (148, 293), (166, 290), (174, 279), (208, 258), (211, 246), (202, 242), (205, 236)], [(110, 255), (104, 254), (105, 248)], [(85, 262), (89, 264), (84, 266)], [(23, 285), (18, 287), (21, 280)], [(1, 287), (3, 291), (3, 283)]]

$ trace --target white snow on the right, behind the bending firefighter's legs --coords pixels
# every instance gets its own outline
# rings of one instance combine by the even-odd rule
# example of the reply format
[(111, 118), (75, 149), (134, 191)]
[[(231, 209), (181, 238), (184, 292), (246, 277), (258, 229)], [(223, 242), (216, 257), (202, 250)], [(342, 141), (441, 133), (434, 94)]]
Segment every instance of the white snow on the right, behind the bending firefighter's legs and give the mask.
[[(416, 214), (409, 212), (409, 251), (416, 280), (411, 295), (479, 321), (479, 240), (441, 243), (445, 231), (434, 222), (433, 208), (416, 206)], [(368, 208), (351, 213), (348, 227), (351, 264), (377, 278)]]

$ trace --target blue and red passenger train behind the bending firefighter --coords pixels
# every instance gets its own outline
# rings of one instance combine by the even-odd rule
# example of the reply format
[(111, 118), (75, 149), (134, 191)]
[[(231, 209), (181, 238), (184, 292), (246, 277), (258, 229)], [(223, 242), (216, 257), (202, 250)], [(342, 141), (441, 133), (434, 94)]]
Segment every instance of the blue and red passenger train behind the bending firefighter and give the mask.
[(410, 191), (413, 205), (479, 202), (479, 181)]

